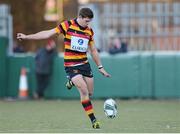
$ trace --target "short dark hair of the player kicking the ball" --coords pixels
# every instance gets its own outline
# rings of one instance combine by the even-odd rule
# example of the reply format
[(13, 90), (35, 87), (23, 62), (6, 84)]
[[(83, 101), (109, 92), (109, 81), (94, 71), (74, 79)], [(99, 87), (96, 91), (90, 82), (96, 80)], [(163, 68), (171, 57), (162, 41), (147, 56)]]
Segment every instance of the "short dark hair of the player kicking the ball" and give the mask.
[(90, 8), (81, 8), (79, 11), (79, 16), (82, 18), (90, 18), (92, 19), (94, 17), (93, 11)]

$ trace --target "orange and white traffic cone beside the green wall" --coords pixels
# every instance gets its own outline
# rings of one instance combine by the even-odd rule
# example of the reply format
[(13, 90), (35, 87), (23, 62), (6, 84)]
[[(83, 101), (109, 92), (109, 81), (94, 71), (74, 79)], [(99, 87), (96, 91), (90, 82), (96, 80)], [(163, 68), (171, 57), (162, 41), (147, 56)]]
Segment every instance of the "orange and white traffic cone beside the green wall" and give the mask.
[(27, 99), (28, 98), (28, 84), (26, 76), (26, 68), (21, 68), (21, 75), (19, 81), (19, 98)]

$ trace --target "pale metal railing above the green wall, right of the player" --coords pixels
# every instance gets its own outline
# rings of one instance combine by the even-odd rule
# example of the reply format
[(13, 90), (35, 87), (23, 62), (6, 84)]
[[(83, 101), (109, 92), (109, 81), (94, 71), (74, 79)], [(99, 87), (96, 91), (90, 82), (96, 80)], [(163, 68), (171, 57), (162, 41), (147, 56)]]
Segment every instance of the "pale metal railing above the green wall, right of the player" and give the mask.
[(100, 10), (103, 51), (114, 37), (130, 51), (180, 50), (180, 2), (104, 3)]

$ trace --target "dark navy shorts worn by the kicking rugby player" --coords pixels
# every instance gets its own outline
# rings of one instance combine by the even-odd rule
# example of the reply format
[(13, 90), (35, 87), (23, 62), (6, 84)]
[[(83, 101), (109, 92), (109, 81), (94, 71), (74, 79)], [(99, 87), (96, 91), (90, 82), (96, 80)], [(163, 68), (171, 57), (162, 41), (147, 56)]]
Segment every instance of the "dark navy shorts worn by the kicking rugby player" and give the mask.
[(81, 74), (85, 77), (90, 77), (90, 78), (93, 77), (93, 73), (89, 63), (74, 67), (65, 67), (65, 71), (68, 79), (72, 79), (74, 76), (78, 74)]

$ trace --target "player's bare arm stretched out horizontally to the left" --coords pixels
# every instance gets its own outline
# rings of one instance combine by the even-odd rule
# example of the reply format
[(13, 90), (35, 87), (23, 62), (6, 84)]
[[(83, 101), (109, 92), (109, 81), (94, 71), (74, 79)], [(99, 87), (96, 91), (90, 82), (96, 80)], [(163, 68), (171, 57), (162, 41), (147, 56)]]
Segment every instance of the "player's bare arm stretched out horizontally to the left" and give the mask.
[(41, 39), (48, 39), (51, 36), (57, 34), (56, 28), (41, 31), (35, 34), (23, 34), (23, 33), (17, 33), (17, 39), (18, 40), (41, 40)]

